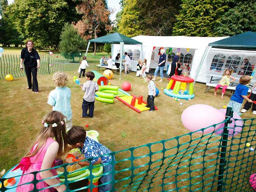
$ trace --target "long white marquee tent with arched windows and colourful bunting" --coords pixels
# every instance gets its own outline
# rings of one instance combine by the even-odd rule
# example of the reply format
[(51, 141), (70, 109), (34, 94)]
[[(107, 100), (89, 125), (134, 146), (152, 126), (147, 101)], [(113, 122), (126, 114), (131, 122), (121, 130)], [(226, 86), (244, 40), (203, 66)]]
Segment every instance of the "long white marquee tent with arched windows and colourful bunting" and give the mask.
[[(158, 49), (164, 47), (164, 49), (172, 48), (172, 54), (170, 53), (166, 62), (167, 65), (171, 64), (174, 54), (180, 49), (181, 60), (184, 63), (190, 63), (190, 76), (193, 78), (196, 76), (196, 70), (200, 64), (200, 61), (208, 47), (208, 44), (218, 40), (222, 40), (227, 37), (188, 37), (188, 36), (136, 36), (132, 39), (143, 43), (143, 55), (147, 59), (147, 72), (149, 68), (156, 68), (159, 59)], [(154, 48), (155, 47), (155, 48)], [(154, 48), (154, 50), (153, 50)], [(128, 52), (132, 60), (132, 70), (136, 71), (136, 65), (140, 54), (140, 45), (124, 45), (124, 52)], [(112, 56), (115, 57), (120, 53), (120, 45), (114, 44), (112, 46)], [(209, 71), (209, 66), (202, 66), (202, 72), (198, 74), (197, 81), (208, 82), (208, 77), (205, 76), (205, 71)]]

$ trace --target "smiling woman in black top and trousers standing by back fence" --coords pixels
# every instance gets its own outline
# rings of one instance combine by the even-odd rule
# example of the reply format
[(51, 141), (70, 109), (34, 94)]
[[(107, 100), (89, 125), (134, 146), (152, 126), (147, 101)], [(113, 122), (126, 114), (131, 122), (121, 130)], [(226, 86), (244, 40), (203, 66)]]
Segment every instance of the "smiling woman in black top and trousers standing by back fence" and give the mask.
[[(40, 57), (38, 52), (33, 48), (32, 40), (27, 40), (26, 47), (22, 49), (20, 54), (20, 70), (23, 71), (22, 63), (24, 63), (25, 72), (28, 80), (27, 89), (31, 89), (38, 93), (38, 82), (36, 79), (37, 69), (40, 67)], [(33, 76), (33, 84), (31, 81), (31, 73)]]

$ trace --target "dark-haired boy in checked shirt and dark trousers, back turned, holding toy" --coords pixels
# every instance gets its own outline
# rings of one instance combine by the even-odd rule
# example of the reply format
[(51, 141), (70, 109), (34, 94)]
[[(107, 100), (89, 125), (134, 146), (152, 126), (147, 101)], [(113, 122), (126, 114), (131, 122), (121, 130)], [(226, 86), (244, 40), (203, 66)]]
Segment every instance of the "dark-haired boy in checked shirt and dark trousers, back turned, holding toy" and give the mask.
[[(81, 117), (93, 117), (94, 111), (94, 101), (95, 101), (95, 92), (99, 90), (97, 82), (92, 81), (95, 75), (93, 72), (89, 71), (85, 74), (85, 79), (87, 80), (83, 85), (80, 85), (83, 92), (83, 103), (82, 103), (82, 116)], [(89, 109), (89, 113), (87, 113)]]

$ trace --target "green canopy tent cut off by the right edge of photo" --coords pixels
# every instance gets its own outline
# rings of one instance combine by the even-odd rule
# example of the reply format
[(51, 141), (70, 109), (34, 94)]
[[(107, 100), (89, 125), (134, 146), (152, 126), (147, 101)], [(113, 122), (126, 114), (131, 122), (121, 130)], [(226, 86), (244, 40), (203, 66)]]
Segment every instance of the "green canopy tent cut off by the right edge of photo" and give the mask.
[(211, 48), (256, 51), (256, 33), (248, 31), (216, 42), (209, 43), (198, 66), (194, 82), (196, 82), (196, 79), (198, 78), (199, 72), (202, 68), (202, 64), (204, 63), (204, 60), (209, 54)]

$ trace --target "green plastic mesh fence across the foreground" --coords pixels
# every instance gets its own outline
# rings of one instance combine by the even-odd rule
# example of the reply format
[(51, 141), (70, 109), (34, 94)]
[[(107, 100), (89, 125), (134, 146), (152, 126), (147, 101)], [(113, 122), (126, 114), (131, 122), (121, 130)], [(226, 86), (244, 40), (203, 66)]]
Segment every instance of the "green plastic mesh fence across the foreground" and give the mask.
[[(210, 115), (210, 114), (209, 114)], [(228, 108), (227, 118), (222, 135), (214, 132), (198, 134), (190, 132), (182, 136), (148, 143), (139, 147), (132, 147), (113, 152), (116, 162), (110, 162), (115, 169), (111, 183), (111, 191), (118, 192), (250, 192), (249, 177), (256, 172), (255, 164), (255, 122), (256, 119), (235, 120), (242, 121), (242, 132), (234, 137), (228, 137), (228, 123), (232, 117), (232, 110)], [(218, 124), (219, 125), (219, 124)], [(212, 125), (217, 128), (216, 124)], [(201, 129), (204, 131), (205, 129)], [(249, 144), (250, 146), (249, 146)], [(86, 169), (90, 174), (77, 180), (68, 180), (64, 167), (62, 184), (68, 191), (87, 191), (96, 187), (94, 167), (90, 164)], [(60, 167), (60, 166), (58, 166)], [(34, 176), (37, 172), (34, 172)], [(0, 179), (2, 188), (5, 179)], [(34, 180), (30, 183), (36, 184)], [(82, 184), (81, 184), (82, 182)], [(69, 186), (69, 188), (68, 188)], [(40, 191), (40, 190), (34, 190)]]

